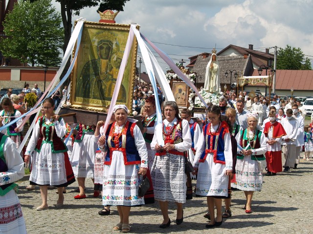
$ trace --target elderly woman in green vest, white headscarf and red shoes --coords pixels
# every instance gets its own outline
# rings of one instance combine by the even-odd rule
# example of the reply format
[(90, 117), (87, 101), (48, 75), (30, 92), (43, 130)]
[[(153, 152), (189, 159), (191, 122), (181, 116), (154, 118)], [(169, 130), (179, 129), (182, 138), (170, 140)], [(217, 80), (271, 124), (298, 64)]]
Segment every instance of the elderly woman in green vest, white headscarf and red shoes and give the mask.
[(247, 122), (247, 129), (240, 131), (236, 136), (237, 142), (243, 148), (237, 156), (236, 182), (237, 189), (243, 190), (246, 195), (246, 214), (251, 214), (253, 192), (262, 189), (262, 171), (258, 161), (265, 160), (267, 145), (266, 137), (257, 129), (258, 116), (248, 114)]

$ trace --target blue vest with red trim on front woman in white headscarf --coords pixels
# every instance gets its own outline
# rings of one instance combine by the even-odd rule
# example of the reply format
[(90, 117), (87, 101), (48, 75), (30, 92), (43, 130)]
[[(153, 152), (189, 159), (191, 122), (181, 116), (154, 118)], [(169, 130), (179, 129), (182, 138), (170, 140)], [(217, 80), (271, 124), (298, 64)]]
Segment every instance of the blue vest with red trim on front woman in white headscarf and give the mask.
[(116, 122), (111, 123), (106, 132), (106, 145), (108, 151), (104, 164), (111, 165), (113, 151), (121, 151), (123, 153), (125, 165), (140, 164), (141, 159), (136, 149), (134, 139), (134, 127), (136, 123), (130, 123), (129, 121), (126, 121), (123, 132), (118, 139), (118, 145), (115, 145), (115, 142), (113, 141), (113, 130), (115, 124)]

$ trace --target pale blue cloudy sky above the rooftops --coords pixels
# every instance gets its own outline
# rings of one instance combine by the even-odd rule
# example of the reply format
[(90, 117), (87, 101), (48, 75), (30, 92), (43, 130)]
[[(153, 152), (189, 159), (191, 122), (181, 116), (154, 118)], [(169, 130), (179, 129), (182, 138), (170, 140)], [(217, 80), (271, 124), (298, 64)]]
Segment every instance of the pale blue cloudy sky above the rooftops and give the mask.
[[(52, 2), (60, 9), (59, 3)], [(98, 21), (96, 9), (85, 8), (79, 17)], [(253, 44), (264, 52), (289, 44), (313, 56), (312, 12), (313, 0), (130, 0), (115, 20), (139, 24), (140, 31), (159, 42), (156, 46), (175, 62), (187, 63), (188, 57), (211, 52), (215, 44), (217, 51), (229, 44), (246, 48)], [(161, 60), (160, 65), (167, 67)]]

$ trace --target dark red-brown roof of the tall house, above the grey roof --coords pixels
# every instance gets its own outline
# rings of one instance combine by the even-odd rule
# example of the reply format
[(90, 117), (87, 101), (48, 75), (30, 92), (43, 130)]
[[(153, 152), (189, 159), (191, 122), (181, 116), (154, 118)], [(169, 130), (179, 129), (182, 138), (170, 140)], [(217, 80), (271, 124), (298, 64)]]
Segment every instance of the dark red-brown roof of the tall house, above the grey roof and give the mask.
[[(264, 64), (263, 60), (268, 60), (268, 59), (274, 59), (274, 55), (266, 53), (266, 52), (262, 52), (262, 51), (257, 51), (257, 50), (253, 50), (253, 49), (247, 49), (241, 46), (237, 46), (237, 45), (228, 45), (227, 47), (225, 47), (223, 50), (221, 50), (219, 53), (217, 53), (217, 55), (222, 54), (224, 51), (228, 50), (228, 49), (234, 49), (238, 51), (238, 55), (245, 55), (245, 54), (250, 54), (251, 55), (251, 59), (252, 62), (254, 64), (256, 64), (257, 66), (261, 66), (262, 64)], [(267, 65), (267, 64), (265, 64)]]

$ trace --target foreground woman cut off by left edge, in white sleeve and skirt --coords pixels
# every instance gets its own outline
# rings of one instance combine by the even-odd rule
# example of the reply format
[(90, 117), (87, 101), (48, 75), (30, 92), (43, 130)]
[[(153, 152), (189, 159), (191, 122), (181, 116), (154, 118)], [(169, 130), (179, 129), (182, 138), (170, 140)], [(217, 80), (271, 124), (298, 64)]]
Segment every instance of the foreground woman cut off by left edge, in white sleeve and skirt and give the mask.
[(0, 233), (25, 234), (22, 208), (14, 182), (24, 176), (24, 162), (15, 143), (0, 133)]

